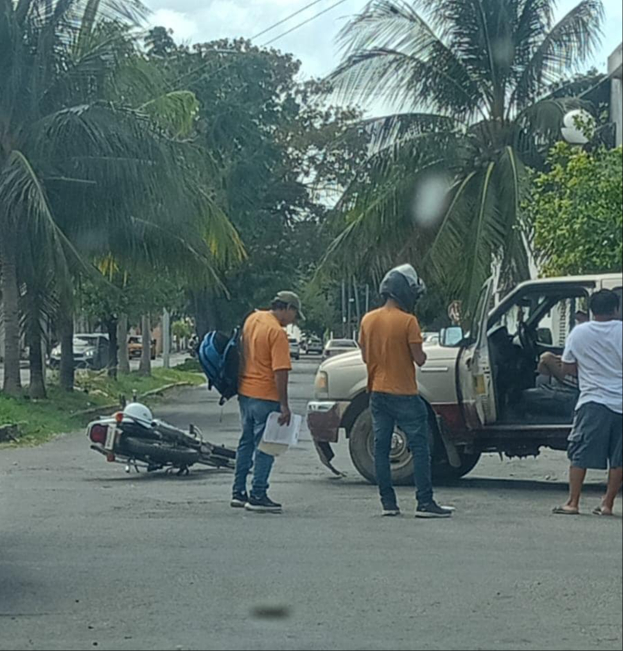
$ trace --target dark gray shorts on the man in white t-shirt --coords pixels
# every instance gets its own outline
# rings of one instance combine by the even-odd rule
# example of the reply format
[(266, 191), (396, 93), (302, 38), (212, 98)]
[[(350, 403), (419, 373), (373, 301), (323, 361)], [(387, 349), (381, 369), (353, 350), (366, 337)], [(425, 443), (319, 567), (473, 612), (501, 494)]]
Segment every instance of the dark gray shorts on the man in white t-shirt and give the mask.
[(589, 402), (575, 414), (568, 455), (577, 468), (623, 467), (623, 414)]

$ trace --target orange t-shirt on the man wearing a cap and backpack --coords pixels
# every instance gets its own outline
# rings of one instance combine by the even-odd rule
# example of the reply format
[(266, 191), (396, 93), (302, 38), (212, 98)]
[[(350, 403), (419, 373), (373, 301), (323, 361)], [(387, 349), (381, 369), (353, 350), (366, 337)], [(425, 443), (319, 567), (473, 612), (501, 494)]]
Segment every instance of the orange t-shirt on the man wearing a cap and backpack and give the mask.
[(279, 402), (275, 371), (292, 370), (288, 335), (270, 312), (255, 312), (243, 329), (243, 370), (238, 393)]

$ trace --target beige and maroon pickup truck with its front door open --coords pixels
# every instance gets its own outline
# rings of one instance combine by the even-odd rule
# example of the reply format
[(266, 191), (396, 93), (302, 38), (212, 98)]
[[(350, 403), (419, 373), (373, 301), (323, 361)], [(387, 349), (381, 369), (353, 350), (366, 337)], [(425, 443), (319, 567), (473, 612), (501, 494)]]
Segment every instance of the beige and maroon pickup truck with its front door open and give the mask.
[[(623, 297), (623, 275), (550, 278), (520, 284), (493, 304), (493, 280), (482, 288), (469, 331), (441, 331), (425, 342), (428, 362), (418, 370), (420, 394), (430, 414), (433, 474), (448, 480), (468, 474), (484, 452), (508, 457), (536, 456), (541, 448), (567, 448), (574, 401), (559, 400), (537, 386), (538, 358), (561, 354), (601, 289)], [(360, 351), (329, 359), (320, 367), (308, 422), (324, 465), (331, 444), (346, 432), (353, 464), (374, 482), (374, 433), (367, 394), (367, 370)], [(412, 453), (396, 429), (392, 475), (412, 483)]]

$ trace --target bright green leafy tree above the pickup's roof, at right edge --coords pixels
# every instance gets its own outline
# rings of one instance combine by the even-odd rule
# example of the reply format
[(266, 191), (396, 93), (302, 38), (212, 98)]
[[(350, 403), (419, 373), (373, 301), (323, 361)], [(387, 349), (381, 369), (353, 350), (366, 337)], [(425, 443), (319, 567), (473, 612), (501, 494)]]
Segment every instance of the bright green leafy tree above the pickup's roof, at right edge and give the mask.
[(535, 173), (526, 218), (547, 276), (623, 268), (623, 148), (589, 152), (558, 144)]

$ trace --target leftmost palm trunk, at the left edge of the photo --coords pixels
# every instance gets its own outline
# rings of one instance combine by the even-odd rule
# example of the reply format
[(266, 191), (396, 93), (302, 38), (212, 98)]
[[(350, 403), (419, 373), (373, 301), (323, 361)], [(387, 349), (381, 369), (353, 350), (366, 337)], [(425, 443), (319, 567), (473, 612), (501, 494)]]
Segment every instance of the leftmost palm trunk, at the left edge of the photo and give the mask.
[(4, 322), (4, 381), (3, 391), (11, 396), (21, 394), (19, 374), (19, 288), (15, 233), (3, 226), (0, 234), (0, 270)]

